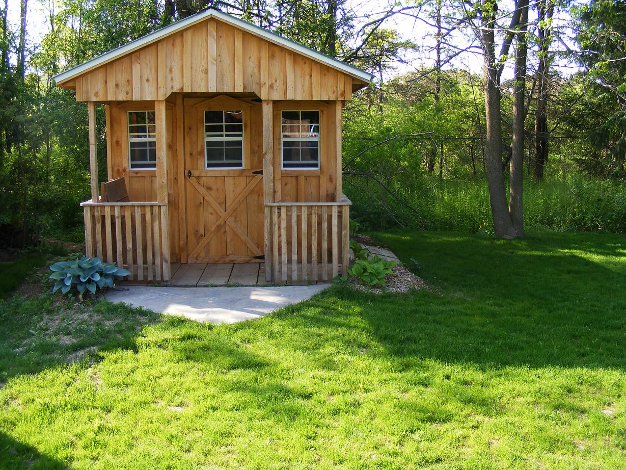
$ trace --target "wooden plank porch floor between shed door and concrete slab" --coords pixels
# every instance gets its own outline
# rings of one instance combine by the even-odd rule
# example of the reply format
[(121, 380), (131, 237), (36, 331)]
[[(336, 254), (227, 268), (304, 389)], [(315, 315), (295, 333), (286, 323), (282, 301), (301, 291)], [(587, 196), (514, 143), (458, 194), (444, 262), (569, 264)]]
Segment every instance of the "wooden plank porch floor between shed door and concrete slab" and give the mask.
[[(209, 287), (209, 286), (264, 286), (270, 285), (265, 281), (264, 263), (172, 263), (172, 274), (169, 281), (122, 281), (120, 285), (133, 286), (179, 286), (179, 287)], [(289, 265), (291, 269), (291, 265)], [(321, 269), (321, 266), (320, 266)], [(302, 267), (299, 265), (301, 273)], [(332, 276), (331, 276), (332, 278)], [(329, 278), (330, 279), (330, 278)], [(321, 281), (289, 281), (289, 284), (317, 284)], [(326, 282), (326, 281), (325, 281)]]

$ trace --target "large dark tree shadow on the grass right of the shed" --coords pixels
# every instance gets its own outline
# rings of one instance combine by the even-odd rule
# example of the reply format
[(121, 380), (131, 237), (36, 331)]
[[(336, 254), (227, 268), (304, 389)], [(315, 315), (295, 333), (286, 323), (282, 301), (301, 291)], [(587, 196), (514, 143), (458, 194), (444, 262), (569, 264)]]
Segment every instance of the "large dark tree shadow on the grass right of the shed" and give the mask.
[(398, 297), (336, 290), (343, 314), (329, 314), (324, 300), (314, 301), (324, 315), (307, 314), (328, 340), (341, 341), (348, 312), (358, 311), (364, 325), (357, 327), (394, 357), (488, 368), (625, 370), (622, 237), (549, 234), (496, 241), (392, 232), (377, 238), (401, 259), (418, 259), (424, 266), (418, 275), (436, 291)]

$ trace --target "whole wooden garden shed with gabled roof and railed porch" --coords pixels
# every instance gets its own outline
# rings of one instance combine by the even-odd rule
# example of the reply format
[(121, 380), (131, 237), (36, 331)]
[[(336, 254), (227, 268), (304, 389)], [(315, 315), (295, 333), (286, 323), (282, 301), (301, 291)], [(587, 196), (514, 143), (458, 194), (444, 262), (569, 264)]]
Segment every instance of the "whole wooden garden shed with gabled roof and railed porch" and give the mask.
[(342, 108), (371, 78), (215, 9), (59, 74), (88, 103), (86, 254), (140, 281), (189, 263), (262, 263), (252, 266), (276, 283), (344, 272)]

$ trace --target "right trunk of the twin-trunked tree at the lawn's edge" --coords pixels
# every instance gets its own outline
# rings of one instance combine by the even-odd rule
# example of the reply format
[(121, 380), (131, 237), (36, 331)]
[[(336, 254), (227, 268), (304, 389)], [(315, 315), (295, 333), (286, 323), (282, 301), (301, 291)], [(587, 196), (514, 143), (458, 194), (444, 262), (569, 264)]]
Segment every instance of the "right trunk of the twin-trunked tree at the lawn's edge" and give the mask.
[(522, 8), (520, 31), (516, 34), (515, 88), (513, 90), (513, 142), (511, 143), (511, 176), (509, 180), (509, 213), (516, 237), (524, 235), (522, 191), (524, 179), (524, 122), (526, 120), (526, 28), (528, 27), (528, 0), (520, 0)]

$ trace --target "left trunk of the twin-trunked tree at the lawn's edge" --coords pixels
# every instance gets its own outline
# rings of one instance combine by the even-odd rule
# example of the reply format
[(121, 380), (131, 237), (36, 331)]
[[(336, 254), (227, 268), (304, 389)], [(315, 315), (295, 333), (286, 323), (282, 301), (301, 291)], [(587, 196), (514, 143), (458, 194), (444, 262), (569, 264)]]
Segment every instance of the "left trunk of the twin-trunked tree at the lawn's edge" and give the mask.
[(483, 54), (485, 56), (485, 113), (486, 142), (485, 163), (489, 202), (493, 217), (493, 231), (496, 237), (513, 238), (515, 231), (511, 223), (508, 201), (506, 201), (505, 182), (502, 173), (502, 123), (500, 120), (500, 88), (498, 87), (498, 68), (495, 52), (495, 17), (493, 4), (485, 3), (482, 18)]

